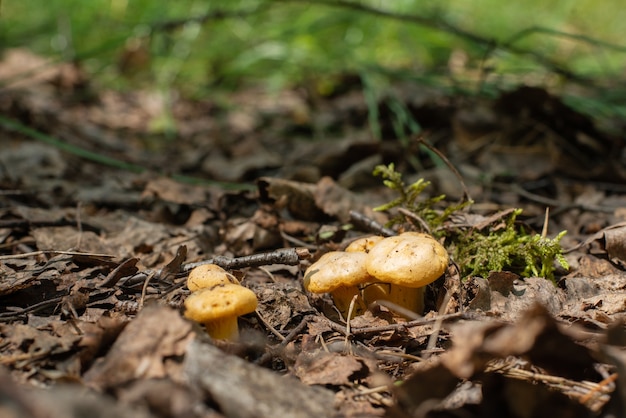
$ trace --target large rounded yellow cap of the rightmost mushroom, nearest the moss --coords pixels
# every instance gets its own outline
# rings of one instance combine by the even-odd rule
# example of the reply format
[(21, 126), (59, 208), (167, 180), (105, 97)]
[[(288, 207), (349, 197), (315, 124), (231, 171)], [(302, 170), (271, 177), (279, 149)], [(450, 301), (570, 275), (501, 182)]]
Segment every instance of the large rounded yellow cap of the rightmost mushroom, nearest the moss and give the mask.
[(405, 232), (374, 245), (365, 261), (370, 275), (382, 282), (422, 287), (448, 267), (448, 253), (428, 234)]

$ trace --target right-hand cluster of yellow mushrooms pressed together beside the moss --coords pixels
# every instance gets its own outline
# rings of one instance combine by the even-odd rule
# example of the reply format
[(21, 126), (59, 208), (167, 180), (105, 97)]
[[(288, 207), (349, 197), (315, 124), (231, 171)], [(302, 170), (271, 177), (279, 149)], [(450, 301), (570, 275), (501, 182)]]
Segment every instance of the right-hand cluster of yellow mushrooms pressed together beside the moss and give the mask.
[(330, 293), (344, 318), (363, 314), (379, 300), (422, 314), (424, 286), (441, 277), (447, 267), (448, 253), (428, 234), (370, 236), (352, 242), (345, 251), (322, 255), (306, 270), (304, 287), (313, 293)]

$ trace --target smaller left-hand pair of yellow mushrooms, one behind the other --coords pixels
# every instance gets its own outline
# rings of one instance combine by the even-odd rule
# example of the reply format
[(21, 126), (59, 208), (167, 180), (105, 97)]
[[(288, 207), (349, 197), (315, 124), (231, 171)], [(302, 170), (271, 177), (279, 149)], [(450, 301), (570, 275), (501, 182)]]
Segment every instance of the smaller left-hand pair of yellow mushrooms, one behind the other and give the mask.
[(258, 300), (254, 292), (216, 264), (200, 265), (189, 273), (185, 317), (204, 325), (215, 339), (237, 340), (237, 318), (254, 312)]

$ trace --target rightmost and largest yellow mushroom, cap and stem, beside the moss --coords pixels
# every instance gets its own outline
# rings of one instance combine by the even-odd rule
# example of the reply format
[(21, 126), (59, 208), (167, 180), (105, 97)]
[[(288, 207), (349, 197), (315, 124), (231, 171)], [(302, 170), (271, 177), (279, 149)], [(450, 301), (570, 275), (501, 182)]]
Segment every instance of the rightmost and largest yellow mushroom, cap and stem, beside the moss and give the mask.
[(362, 291), (369, 304), (385, 299), (412, 312), (424, 311), (424, 286), (434, 282), (448, 267), (448, 253), (432, 236), (418, 232), (380, 240), (365, 260), (367, 272), (378, 282)]

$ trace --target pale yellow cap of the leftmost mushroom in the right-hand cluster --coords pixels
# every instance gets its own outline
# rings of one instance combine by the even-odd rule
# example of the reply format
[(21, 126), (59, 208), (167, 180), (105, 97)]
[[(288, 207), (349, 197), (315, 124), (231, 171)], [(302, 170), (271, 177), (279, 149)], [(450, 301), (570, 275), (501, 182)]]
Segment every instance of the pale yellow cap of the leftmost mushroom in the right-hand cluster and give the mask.
[(366, 258), (364, 252), (328, 252), (306, 269), (304, 288), (313, 293), (327, 293), (371, 280), (365, 268)]

